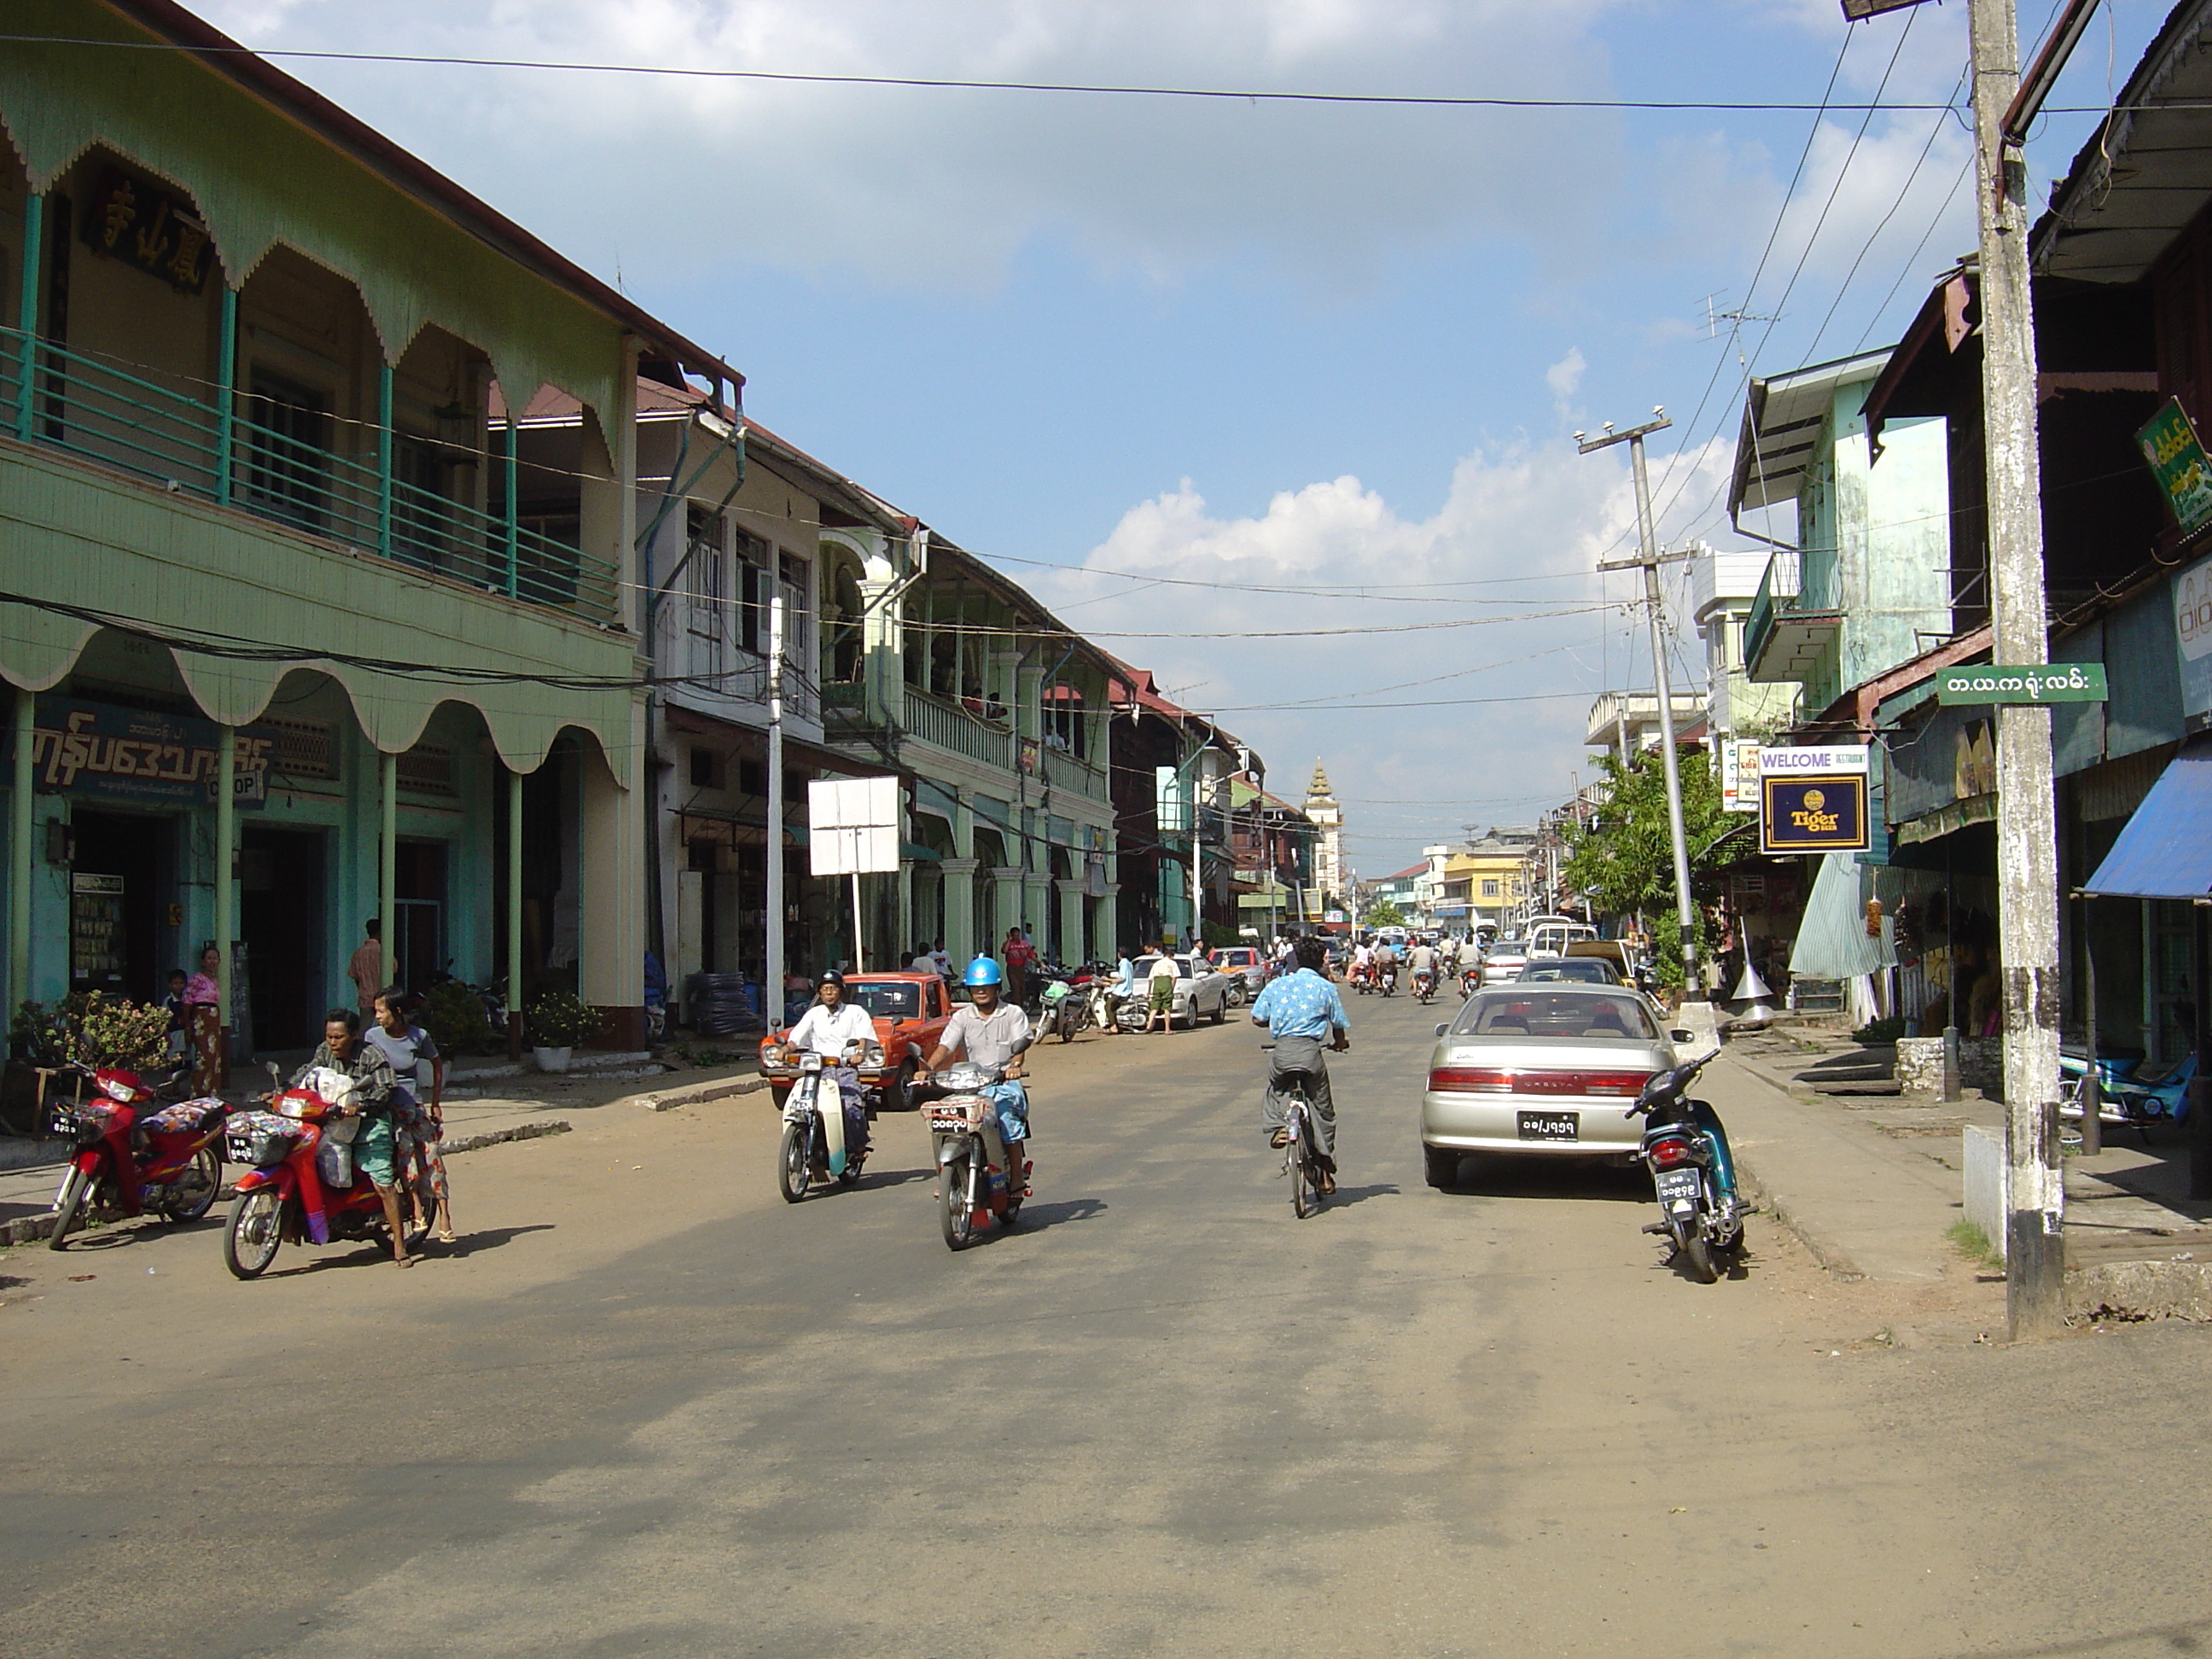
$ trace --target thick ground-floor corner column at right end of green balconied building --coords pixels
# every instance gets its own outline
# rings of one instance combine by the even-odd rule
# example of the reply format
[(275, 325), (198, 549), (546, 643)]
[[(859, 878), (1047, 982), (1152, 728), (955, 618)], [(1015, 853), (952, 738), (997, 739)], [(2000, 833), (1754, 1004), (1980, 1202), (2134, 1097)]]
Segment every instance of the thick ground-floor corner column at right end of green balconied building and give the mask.
[(602, 1042), (615, 1048), (646, 1040), (646, 821), (637, 807), (644, 728), (644, 703), (633, 703), (628, 743), (615, 757), (624, 776), (593, 745), (577, 765), (577, 989), (606, 1013)]

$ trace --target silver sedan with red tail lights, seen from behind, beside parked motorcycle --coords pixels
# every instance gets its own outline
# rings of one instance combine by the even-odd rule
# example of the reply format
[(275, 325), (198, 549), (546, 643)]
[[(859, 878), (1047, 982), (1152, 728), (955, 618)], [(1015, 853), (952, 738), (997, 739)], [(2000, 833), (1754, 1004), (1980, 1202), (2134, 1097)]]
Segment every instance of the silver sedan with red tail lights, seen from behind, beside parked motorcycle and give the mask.
[(1469, 1155), (1626, 1159), (1644, 1128), (1628, 1106), (1674, 1064), (1650, 1002), (1626, 987), (1489, 987), (1438, 1031), (1420, 1099), (1429, 1186), (1451, 1186)]

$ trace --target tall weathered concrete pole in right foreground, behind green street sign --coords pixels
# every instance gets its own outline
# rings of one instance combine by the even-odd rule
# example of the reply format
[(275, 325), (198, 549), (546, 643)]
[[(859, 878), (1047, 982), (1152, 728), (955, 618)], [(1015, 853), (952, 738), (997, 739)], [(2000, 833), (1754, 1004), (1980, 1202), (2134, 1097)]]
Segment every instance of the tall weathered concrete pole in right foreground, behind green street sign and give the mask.
[[(1918, 0), (1843, 0), (1845, 18)], [(2057, 80), (2095, 0), (2073, 0), (2020, 88), (2013, 0), (1969, 0), (1973, 177), (1980, 226), (1982, 434), (1995, 661), (2048, 659), (2042, 478), (2035, 453), (2035, 312), (2020, 135)], [(1997, 708), (1997, 958), (2004, 984), (2004, 1310), (2013, 1338), (2066, 1325), (2066, 1188), (2059, 1172), (2059, 867), (2051, 710)]]

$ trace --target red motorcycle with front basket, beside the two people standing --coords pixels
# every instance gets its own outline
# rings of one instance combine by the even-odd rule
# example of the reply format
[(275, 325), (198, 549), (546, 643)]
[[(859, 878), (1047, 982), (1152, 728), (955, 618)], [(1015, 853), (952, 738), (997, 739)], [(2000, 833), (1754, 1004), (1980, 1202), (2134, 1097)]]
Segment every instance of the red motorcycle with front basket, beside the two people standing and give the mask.
[[(285, 1243), (389, 1243), (383, 1197), (354, 1170), (361, 1119), (343, 1113), (352, 1086), (330, 1071), (316, 1082), (281, 1088), (265, 1110), (232, 1113), (226, 1124), (230, 1161), (248, 1166), (223, 1228), (234, 1279), (265, 1274)], [(429, 1228), (427, 1214), (418, 1221)]]

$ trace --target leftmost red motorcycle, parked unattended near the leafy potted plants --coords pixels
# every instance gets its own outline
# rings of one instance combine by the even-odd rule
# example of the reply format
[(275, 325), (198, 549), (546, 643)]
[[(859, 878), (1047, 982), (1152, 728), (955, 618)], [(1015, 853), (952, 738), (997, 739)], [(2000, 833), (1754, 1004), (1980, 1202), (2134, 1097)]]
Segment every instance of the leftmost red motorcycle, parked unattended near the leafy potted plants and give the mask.
[(53, 1108), (53, 1133), (75, 1141), (53, 1194), (49, 1250), (64, 1250), (93, 1206), (122, 1217), (148, 1210), (168, 1221), (199, 1221), (223, 1190), (217, 1150), (230, 1106), (186, 1099), (164, 1106), (135, 1071), (80, 1073), (91, 1095)]

